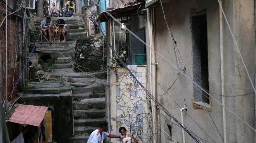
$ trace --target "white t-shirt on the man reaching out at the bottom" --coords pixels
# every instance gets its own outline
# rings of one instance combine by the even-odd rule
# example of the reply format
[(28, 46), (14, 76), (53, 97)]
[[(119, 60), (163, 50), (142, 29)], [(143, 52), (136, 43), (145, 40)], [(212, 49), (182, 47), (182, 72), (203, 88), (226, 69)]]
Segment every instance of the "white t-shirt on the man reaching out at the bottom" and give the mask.
[(96, 129), (91, 133), (87, 143), (103, 143), (104, 138), (107, 138), (108, 136), (109, 133), (105, 131), (103, 131), (100, 135), (99, 130)]

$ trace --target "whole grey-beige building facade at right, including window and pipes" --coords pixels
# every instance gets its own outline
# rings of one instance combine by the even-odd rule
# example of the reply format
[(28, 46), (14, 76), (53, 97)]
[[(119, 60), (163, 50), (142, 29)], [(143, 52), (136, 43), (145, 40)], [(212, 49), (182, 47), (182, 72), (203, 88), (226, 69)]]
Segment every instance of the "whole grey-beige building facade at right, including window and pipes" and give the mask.
[[(202, 140), (254, 143), (255, 3), (223, 0), (220, 4), (218, 0), (146, 1), (147, 81), (152, 80), (147, 89)], [(194, 142), (157, 105), (152, 109), (157, 113), (156, 142)]]

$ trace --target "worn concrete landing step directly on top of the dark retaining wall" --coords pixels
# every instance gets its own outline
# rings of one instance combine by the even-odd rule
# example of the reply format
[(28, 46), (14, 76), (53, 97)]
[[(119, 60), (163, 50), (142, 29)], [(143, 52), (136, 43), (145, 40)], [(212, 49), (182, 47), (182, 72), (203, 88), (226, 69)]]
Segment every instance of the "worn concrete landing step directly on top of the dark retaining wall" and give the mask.
[(65, 93), (68, 91), (70, 91), (70, 88), (68, 87), (43, 87), (43, 88), (30, 87), (26, 90), (26, 93), (57, 94), (57, 93)]

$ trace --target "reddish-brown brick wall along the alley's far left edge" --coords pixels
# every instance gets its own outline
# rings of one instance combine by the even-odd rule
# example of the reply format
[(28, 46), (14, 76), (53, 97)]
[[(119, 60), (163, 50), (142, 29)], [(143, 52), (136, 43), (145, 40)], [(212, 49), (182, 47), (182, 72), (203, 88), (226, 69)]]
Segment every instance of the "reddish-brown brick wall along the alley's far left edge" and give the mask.
[[(18, 2), (19, 0), (14, 1), (11, 5), (8, 5), (10, 7), (14, 7), (13, 5), (16, 5), (16, 9), (18, 8), (18, 4), (21, 2)], [(17, 3), (18, 2), (18, 3)], [(9, 12), (14, 12), (15, 10), (10, 9), (8, 7)], [(0, 22), (3, 21), (5, 17), (5, 2), (0, 0)], [(3, 10), (4, 9), (4, 10)], [(16, 14), (22, 13), (22, 9), (17, 12)], [(1, 83), (1, 88), (2, 91), (2, 96), (5, 99), (5, 91), (6, 91), (6, 86), (5, 86), (5, 81), (7, 80), (7, 95), (9, 96), (10, 93), (12, 92), (12, 89), (14, 85), (17, 82), (18, 74), (20, 73), (20, 69), (17, 69), (17, 65), (19, 63), (19, 59), (17, 58), (17, 53), (19, 50), (21, 50), (22, 43), (21, 43), (21, 34), (22, 34), (22, 19), (16, 15), (8, 15), (7, 19), (7, 73), (5, 73), (5, 67), (6, 67), (6, 40), (5, 40), (5, 20), (3, 22), (3, 25), (0, 27), (0, 66), (1, 66), (1, 71), (0, 71), (0, 83)], [(17, 63), (16, 63), (17, 62)], [(7, 79), (5, 75), (7, 74)], [(1, 89), (0, 89), (1, 90)], [(12, 99), (15, 99), (17, 97), (17, 87), (14, 90)]]

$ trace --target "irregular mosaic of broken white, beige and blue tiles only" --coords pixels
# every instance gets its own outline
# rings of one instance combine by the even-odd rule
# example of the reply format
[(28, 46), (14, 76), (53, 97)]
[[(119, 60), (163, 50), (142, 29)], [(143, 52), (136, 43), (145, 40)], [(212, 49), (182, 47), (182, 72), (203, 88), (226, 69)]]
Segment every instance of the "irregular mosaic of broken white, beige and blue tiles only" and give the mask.
[[(133, 72), (138, 81), (144, 85), (146, 85), (146, 80), (142, 75), (145, 75), (145, 71), (144, 73)], [(113, 130), (120, 135), (118, 129), (124, 126), (128, 133), (136, 137), (138, 141), (151, 143), (152, 116), (145, 109), (148, 105), (145, 104), (143, 98), (145, 98), (145, 91), (130, 74), (121, 72), (116, 74), (116, 129), (113, 128)], [(116, 141), (118, 142), (119, 139)]]

